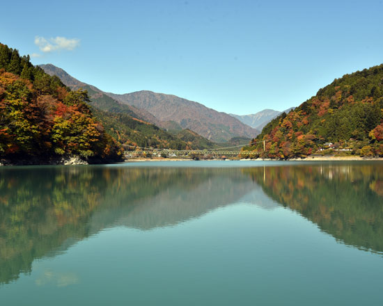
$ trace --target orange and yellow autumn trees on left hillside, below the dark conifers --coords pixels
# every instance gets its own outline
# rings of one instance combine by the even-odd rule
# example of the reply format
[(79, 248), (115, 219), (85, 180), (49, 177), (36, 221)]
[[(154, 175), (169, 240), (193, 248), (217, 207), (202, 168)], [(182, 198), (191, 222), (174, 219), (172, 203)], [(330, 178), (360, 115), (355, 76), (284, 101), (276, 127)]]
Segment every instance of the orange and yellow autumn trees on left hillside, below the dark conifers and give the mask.
[(59, 85), (57, 90), (45, 85), (34, 90), (33, 86), (38, 88), (36, 79), (32, 84), (0, 70), (1, 156), (20, 153), (101, 156), (107, 145), (108, 154), (118, 155), (118, 145), (92, 117), (86, 91), (67, 92)]

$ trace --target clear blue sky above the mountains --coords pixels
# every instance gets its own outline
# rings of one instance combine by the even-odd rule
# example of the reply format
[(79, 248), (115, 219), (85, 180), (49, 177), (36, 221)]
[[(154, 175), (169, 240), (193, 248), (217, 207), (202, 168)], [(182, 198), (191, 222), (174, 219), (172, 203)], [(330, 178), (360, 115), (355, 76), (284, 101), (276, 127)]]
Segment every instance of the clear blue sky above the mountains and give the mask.
[(3, 2), (0, 42), (34, 64), (239, 115), (297, 106), (383, 63), (382, 0)]

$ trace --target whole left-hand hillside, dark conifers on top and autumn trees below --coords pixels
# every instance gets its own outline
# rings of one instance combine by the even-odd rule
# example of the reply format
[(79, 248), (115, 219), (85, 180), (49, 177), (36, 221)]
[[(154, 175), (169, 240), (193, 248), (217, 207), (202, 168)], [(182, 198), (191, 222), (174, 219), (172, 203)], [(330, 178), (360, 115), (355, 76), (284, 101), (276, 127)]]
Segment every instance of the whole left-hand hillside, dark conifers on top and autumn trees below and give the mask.
[(116, 140), (95, 120), (84, 90), (71, 91), (29, 56), (0, 44), (0, 158), (79, 155), (119, 160)]

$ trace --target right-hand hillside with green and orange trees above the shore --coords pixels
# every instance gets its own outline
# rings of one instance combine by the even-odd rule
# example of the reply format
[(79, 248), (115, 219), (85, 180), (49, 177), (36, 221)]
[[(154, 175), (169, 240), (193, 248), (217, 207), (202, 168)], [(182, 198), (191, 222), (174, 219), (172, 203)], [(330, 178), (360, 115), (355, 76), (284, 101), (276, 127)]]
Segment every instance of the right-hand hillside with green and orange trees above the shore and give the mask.
[[(383, 65), (346, 74), (269, 122), (244, 151), (286, 159), (315, 152), (383, 156)], [(263, 152), (265, 141), (265, 152)], [(246, 153), (246, 152), (244, 152)]]

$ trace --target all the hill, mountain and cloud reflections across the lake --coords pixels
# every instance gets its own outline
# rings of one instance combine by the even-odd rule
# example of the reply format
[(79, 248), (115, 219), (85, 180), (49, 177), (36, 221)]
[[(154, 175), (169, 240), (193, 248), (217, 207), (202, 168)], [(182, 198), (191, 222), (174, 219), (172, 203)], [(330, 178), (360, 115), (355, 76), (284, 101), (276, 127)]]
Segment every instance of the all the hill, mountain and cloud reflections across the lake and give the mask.
[[(1, 169), (0, 283), (106, 227), (174, 226), (237, 202), (282, 204), (339, 241), (383, 252), (382, 190), (383, 166), (375, 163)], [(77, 276), (46, 271), (36, 280), (47, 282), (65, 287)]]

